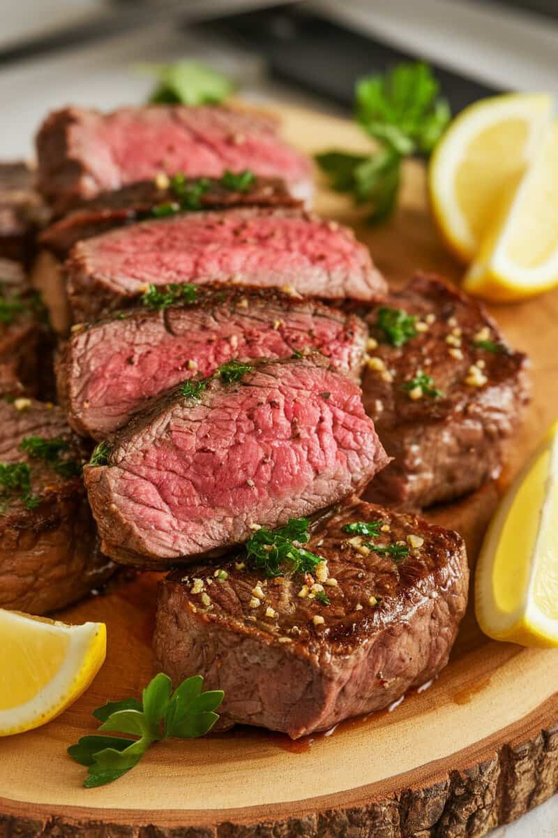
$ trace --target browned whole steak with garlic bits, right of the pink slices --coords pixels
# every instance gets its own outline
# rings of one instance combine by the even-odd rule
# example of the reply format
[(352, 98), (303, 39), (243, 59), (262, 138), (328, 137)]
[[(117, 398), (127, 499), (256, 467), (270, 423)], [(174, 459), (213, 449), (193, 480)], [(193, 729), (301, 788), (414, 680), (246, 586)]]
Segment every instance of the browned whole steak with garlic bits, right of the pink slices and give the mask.
[[(366, 498), (427, 507), (498, 477), (505, 443), (528, 401), (527, 359), (509, 349), (479, 303), (436, 277), (415, 277), (392, 293), (387, 307), (417, 318), (424, 330), (394, 346), (378, 327), (380, 308), (366, 318), (378, 345), (364, 375), (363, 401), (393, 457)], [(429, 389), (443, 395), (412, 387), (421, 370), (432, 379)]]

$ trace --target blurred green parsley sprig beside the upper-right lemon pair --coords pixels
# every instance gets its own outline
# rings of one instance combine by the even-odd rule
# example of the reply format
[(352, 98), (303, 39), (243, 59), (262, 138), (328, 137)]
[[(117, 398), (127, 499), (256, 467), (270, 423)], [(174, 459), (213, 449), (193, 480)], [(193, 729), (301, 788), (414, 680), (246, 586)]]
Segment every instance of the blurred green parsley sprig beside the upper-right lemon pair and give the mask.
[(356, 84), (356, 122), (379, 143), (376, 153), (318, 154), (333, 189), (369, 204), (370, 220), (387, 219), (397, 201), (402, 159), (429, 154), (448, 125), (448, 103), (439, 97), (432, 70), (421, 62), (400, 64), (386, 75)]

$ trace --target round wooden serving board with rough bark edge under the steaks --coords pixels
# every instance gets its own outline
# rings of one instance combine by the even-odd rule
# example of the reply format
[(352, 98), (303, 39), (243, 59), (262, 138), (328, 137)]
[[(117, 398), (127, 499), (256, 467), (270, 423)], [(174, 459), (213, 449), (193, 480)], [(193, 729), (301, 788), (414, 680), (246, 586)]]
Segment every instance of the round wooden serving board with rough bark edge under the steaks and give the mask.
[[(305, 152), (366, 150), (366, 138), (349, 122), (279, 111), (286, 137)], [(392, 282), (416, 268), (460, 276), (433, 229), (419, 163), (405, 167), (389, 225), (359, 223), (349, 201), (324, 188), (316, 209), (354, 225)], [(558, 293), (491, 310), (533, 362), (534, 399), (514, 441), (509, 479), (558, 414)], [(472, 564), (496, 500), (489, 486), (430, 516), (463, 532)], [(84, 789), (84, 768), (66, 747), (95, 731), (96, 706), (139, 695), (154, 674), (158, 578), (143, 574), (62, 615), (76, 623), (104, 620), (107, 660), (62, 716), (0, 741), (0, 836), (470, 838), (558, 790), (558, 652), (490, 641), (471, 608), (446, 670), (391, 712), (346, 722), (312, 742), (239, 728), (163, 743), (114, 784)]]

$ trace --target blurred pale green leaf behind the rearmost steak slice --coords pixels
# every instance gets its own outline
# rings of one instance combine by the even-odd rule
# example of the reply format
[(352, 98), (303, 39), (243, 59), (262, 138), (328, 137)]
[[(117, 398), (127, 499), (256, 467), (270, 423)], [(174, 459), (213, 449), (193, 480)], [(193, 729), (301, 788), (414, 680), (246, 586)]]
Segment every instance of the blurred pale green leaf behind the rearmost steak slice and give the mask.
[(218, 105), (235, 85), (223, 73), (198, 61), (141, 65), (156, 76), (158, 84), (149, 101), (156, 105)]

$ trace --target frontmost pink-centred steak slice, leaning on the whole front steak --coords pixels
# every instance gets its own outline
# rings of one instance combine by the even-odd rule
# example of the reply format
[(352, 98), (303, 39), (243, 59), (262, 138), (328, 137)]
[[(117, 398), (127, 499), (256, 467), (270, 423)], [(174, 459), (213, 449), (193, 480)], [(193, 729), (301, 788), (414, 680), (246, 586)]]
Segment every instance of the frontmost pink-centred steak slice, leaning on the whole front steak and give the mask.
[(198, 392), (188, 382), (192, 395), (178, 386), (96, 449), (84, 476), (107, 556), (156, 566), (223, 551), (386, 464), (359, 387), (325, 360), (246, 366), (220, 367)]

